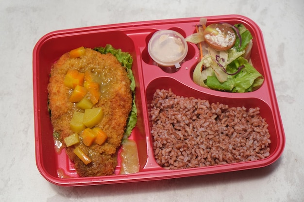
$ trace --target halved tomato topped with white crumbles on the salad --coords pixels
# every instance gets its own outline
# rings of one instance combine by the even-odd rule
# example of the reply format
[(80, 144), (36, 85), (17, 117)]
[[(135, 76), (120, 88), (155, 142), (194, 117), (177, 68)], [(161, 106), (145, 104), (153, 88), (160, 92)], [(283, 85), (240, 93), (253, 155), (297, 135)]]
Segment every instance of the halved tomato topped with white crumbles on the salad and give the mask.
[(236, 43), (236, 34), (224, 24), (211, 24), (203, 31), (205, 42), (214, 49), (228, 50)]

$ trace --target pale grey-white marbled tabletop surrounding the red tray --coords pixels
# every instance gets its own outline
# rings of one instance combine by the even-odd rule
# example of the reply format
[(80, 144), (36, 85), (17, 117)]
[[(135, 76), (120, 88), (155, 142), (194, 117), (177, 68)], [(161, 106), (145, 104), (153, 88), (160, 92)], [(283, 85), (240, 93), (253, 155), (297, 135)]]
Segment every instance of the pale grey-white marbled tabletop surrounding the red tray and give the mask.
[[(10, 0), (0, 2), (1, 202), (304, 201), (303, 0)], [(144, 20), (239, 14), (264, 34), (286, 133), (268, 167), (128, 184), (62, 187), (35, 165), (32, 51), (46, 33)]]

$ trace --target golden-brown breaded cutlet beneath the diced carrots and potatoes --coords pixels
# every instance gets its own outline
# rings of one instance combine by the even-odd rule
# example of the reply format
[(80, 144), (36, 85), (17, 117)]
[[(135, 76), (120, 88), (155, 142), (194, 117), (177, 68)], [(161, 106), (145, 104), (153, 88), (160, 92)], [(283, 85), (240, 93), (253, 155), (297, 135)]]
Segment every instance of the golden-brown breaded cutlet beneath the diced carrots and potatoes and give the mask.
[(82, 177), (111, 175), (117, 166), (117, 150), (132, 109), (132, 92), (127, 71), (112, 54), (101, 54), (90, 48), (85, 48), (85, 53), (78, 58), (70, 58), (69, 53), (65, 53), (54, 63), (48, 85), (49, 109), (53, 130), (59, 133), (64, 146), (63, 140), (73, 134), (70, 129), (72, 115), (75, 111), (81, 111), (75, 103), (69, 102), (71, 90), (64, 85), (69, 69), (82, 73), (90, 71), (98, 75), (101, 96), (94, 108), (101, 107), (103, 118), (96, 126), (102, 128), (107, 139), (101, 145), (93, 143), (85, 146), (83, 142), (77, 145), (92, 160), (87, 165), (73, 153), (75, 145), (66, 147), (66, 153)]

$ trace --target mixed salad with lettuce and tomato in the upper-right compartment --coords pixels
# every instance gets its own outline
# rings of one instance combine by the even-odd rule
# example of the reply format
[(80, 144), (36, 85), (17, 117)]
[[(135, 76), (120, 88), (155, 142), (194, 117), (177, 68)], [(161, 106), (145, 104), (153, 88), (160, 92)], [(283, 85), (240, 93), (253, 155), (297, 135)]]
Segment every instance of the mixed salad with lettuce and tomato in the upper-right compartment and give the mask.
[(206, 18), (196, 25), (196, 33), (186, 41), (197, 44), (201, 61), (193, 72), (193, 81), (203, 87), (233, 93), (258, 89), (263, 76), (250, 61), (252, 34), (243, 24), (210, 24)]

